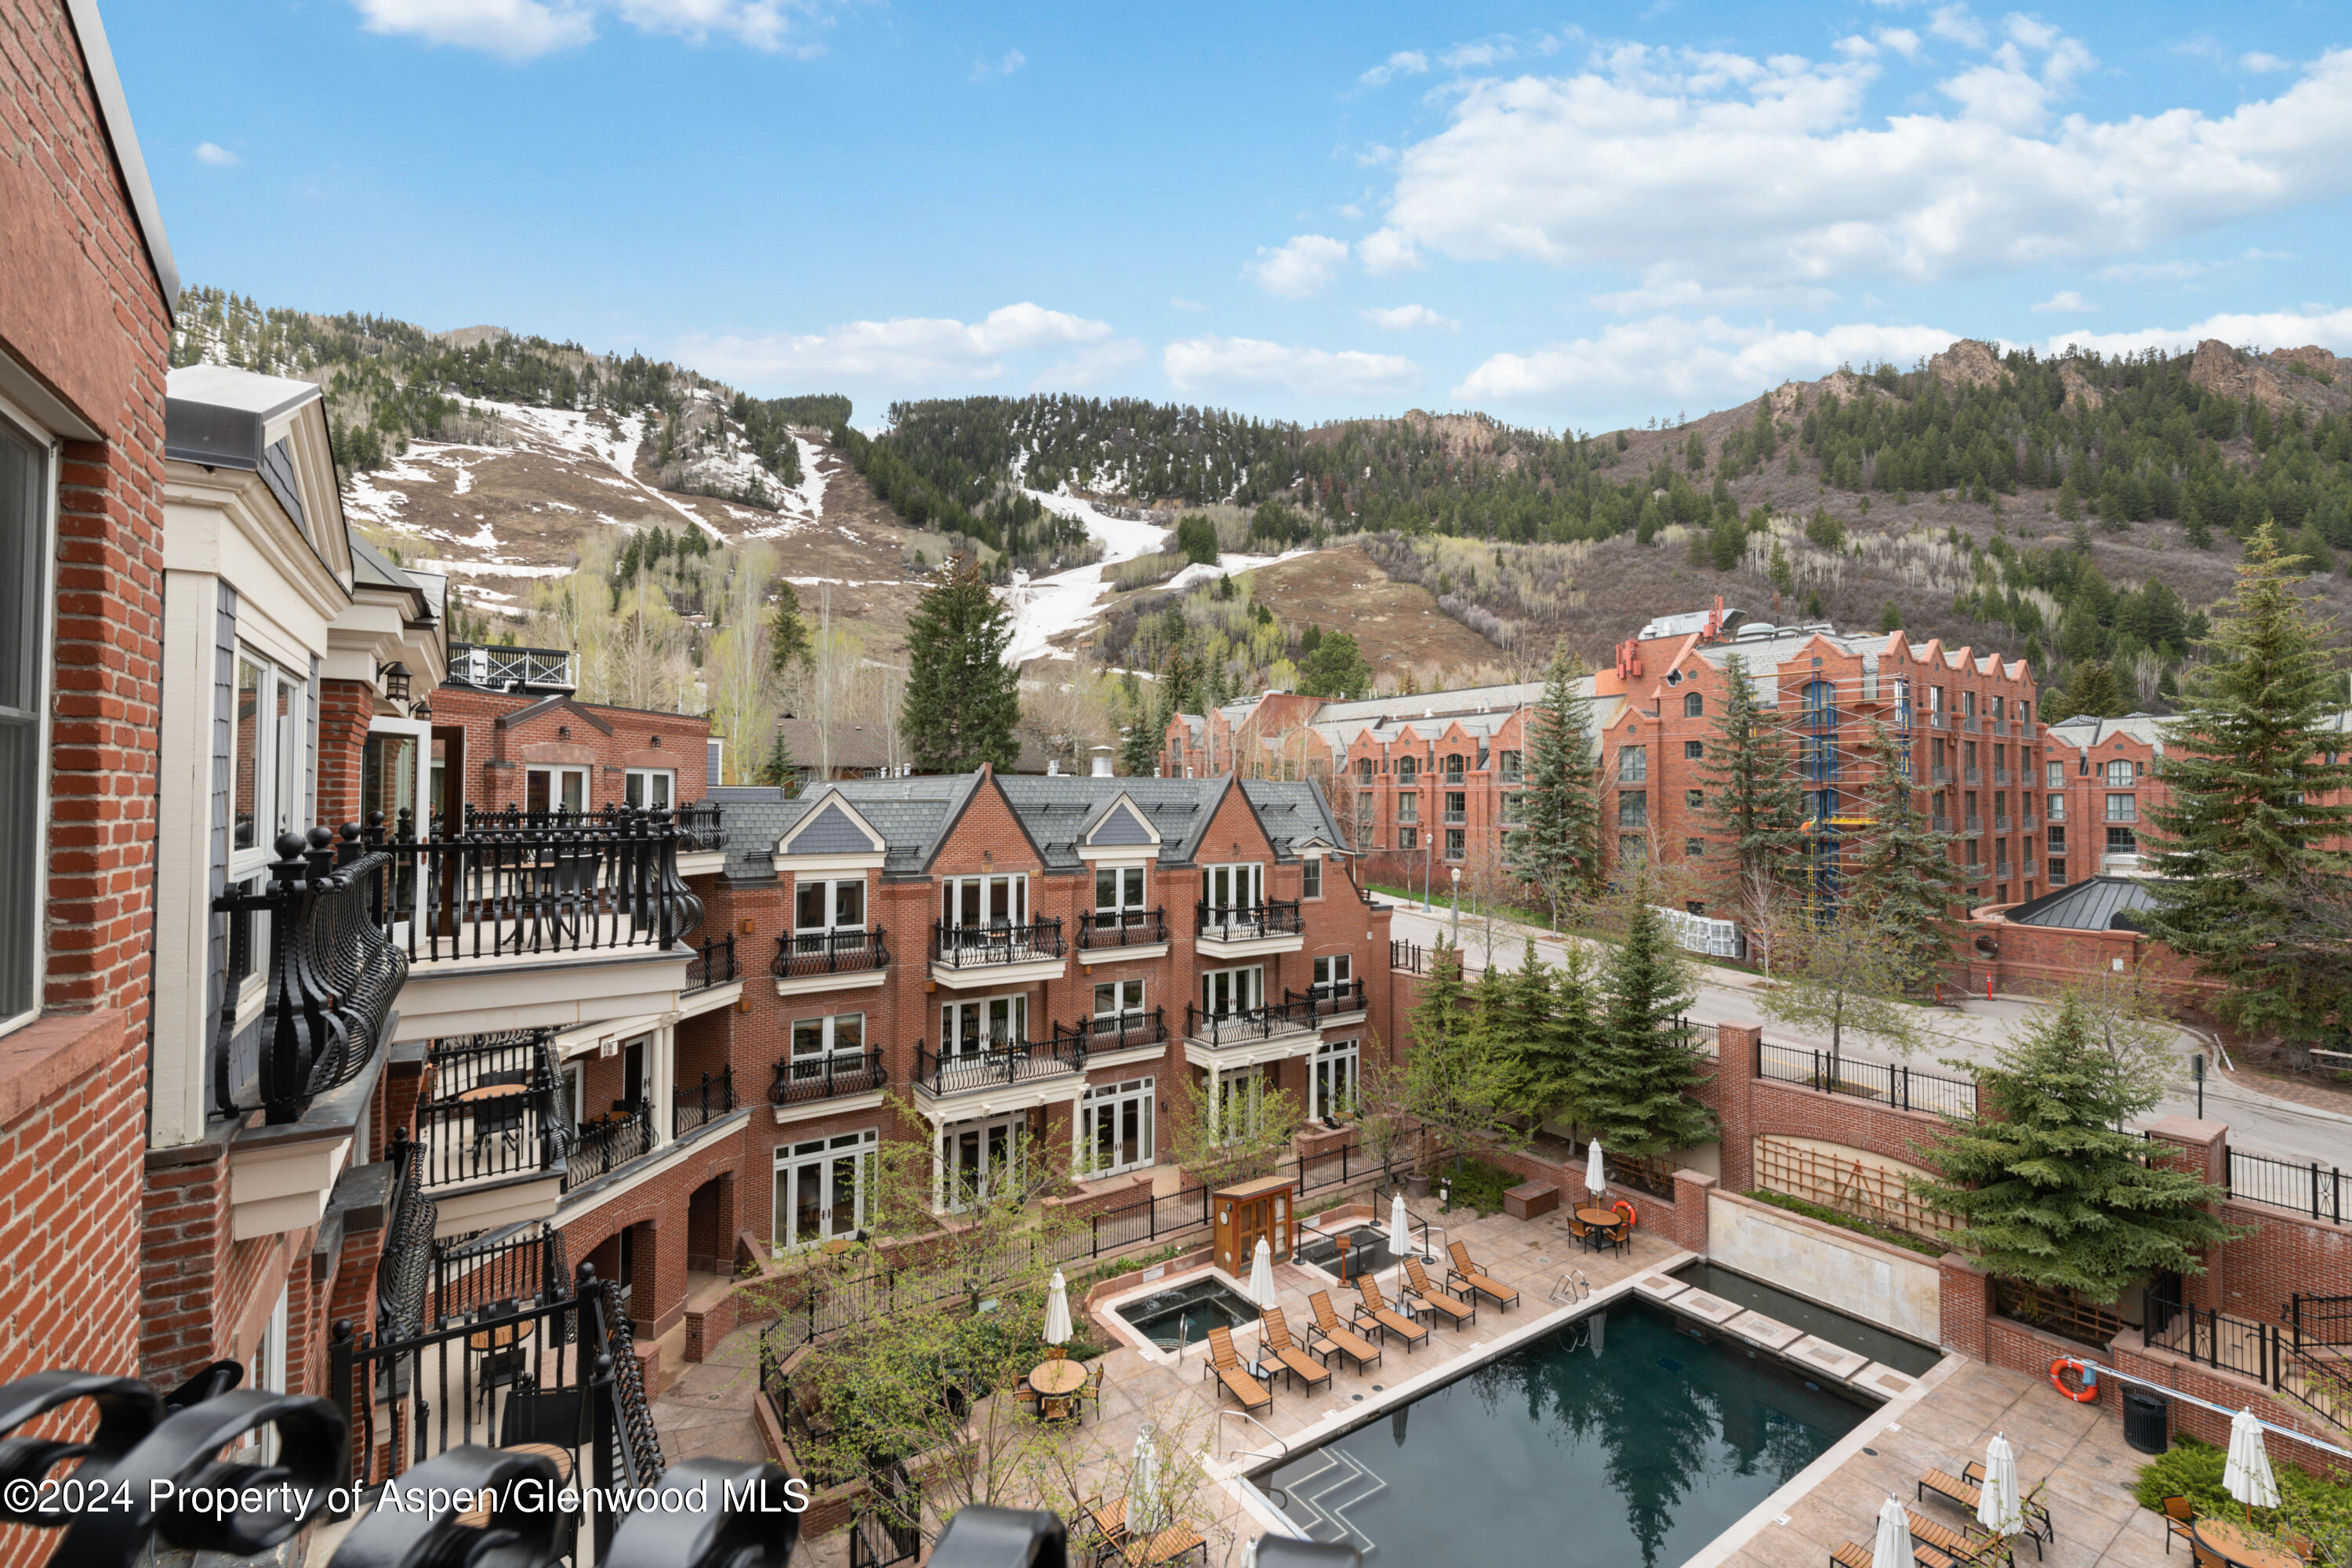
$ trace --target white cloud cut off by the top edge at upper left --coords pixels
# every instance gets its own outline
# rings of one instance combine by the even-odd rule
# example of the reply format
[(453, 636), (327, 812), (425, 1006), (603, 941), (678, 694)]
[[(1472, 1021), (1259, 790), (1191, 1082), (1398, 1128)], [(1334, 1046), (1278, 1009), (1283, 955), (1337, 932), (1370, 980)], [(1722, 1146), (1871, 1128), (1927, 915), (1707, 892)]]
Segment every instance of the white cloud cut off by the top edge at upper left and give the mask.
[(823, 26), (830, 0), (353, 0), (353, 5), (369, 33), (423, 38), (529, 61), (595, 40), (602, 14), (619, 16), (640, 33), (668, 33), (689, 42), (720, 38), (750, 49), (814, 54), (816, 45), (802, 33), (807, 26)]

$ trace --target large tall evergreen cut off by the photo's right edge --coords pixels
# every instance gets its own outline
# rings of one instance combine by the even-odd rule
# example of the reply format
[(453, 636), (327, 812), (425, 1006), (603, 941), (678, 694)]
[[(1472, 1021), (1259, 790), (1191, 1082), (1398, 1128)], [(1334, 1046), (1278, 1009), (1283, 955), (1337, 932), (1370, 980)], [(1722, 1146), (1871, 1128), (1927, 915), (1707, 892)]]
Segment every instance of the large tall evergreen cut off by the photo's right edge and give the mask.
[(2154, 827), (2147, 933), (2220, 980), (2216, 1011), (2256, 1032), (2312, 1039), (2336, 1011), (2293, 940), (2300, 891), (2352, 872), (2331, 849), (2352, 830), (2352, 788), (2326, 729), (2338, 677), (2310, 611), (2293, 590), (2296, 559), (2265, 524), (2218, 607), (2206, 646), (2213, 665), (2166, 726), (2157, 776), (2171, 799), (2150, 804)]

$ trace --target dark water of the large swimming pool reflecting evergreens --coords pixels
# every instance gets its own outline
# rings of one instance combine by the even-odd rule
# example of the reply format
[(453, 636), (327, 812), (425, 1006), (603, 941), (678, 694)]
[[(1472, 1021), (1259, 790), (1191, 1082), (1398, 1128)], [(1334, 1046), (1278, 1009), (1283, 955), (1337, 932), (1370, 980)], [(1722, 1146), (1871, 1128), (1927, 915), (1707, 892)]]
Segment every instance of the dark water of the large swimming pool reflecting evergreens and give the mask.
[(1258, 1483), (1315, 1540), (1399, 1568), (1675, 1568), (1870, 1410), (1628, 1298)]

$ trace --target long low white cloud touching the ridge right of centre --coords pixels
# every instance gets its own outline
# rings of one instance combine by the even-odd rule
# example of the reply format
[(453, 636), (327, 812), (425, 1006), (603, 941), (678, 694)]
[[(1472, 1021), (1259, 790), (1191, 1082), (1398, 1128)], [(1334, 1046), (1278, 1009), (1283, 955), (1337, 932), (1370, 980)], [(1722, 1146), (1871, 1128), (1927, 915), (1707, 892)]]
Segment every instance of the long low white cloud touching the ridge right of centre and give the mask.
[(1943, 353), (1957, 331), (1940, 327), (1877, 327), (1856, 322), (1828, 331), (1733, 327), (1722, 317), (1653, 315), (1606, 327), (1599, 336), (1552, 343), (1534, 353), (1491, 355), (1454, 397), (1461, 402), (1529, 402), (1576, 397), (1618, 404), (1628, 397), (1698, 402), (1755, 397), (1790, 378), (1825, 376), (1839, 364), (1910, 364)]

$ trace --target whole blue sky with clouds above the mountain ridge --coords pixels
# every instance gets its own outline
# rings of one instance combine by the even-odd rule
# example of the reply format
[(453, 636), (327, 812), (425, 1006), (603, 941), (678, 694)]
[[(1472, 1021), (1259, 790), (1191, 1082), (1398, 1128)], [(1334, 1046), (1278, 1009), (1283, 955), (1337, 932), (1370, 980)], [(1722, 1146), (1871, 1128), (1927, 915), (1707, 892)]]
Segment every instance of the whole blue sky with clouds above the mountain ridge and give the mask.
[(181, 273), (755, 393), (1604, 430), (1952, 336), (2352, 355), (2352, 14), (108, 0)]

